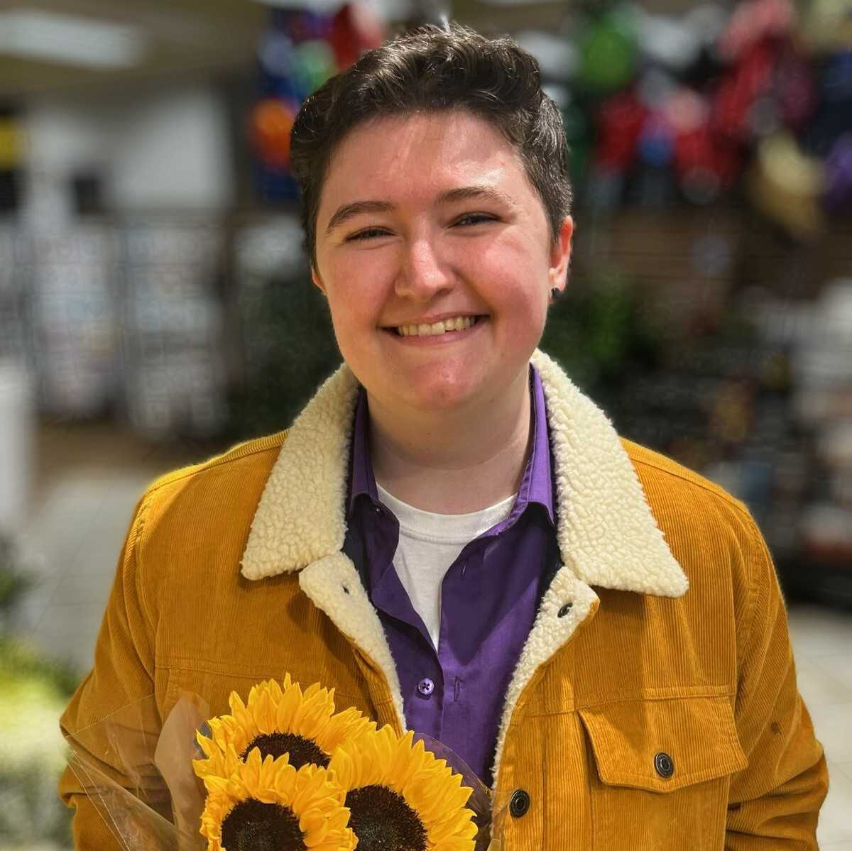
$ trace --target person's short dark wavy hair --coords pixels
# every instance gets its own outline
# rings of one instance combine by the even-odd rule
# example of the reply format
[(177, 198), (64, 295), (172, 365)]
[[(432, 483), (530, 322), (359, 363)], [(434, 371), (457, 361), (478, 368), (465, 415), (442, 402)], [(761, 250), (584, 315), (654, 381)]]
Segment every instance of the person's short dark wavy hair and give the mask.
[(568, 147), (561, 114), (541, 89), (538, 61), (509, 37), (430, 25), (361, 56), (311, 95), (296, 116), (291, 170), (302, 193), (312, 266), (320, 193), (343, 137), (373, 118), (444, 110), (472, 112), (515, 147), (556, 241), (571, 210)]

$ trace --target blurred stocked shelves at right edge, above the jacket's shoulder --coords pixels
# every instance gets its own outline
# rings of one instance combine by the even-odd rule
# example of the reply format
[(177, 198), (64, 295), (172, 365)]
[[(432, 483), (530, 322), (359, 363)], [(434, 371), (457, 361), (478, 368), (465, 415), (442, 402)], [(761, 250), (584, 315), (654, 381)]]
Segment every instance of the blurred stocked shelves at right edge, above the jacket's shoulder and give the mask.
[(727, 457), (705, 473), (749, 505), (788, 589), (849, 605), (852, 279), (815, 302), (746, 291), (735, 309), (757, 338), (739, 392), (716, 397)]

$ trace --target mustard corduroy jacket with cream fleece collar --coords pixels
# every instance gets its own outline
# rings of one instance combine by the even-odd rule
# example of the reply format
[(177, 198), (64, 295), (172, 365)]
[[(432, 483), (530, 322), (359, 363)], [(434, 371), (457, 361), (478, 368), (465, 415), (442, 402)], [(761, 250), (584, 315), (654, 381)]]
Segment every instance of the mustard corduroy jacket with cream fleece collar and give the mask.
[[(826, 762), (797, 691), (774, 567), (745, 506), (619, 439), (537, 352), (563, 566), (506, 694), (504, 851), (816, 848)], [(286, 671), (406, 727), (388, 642), (341, 552), (357, 382), (288, 432), (167, 474), (135, 512), (66, 733), (153, 694), (215, 714)], [(77, 848), (118, 848), (67, 770)]]

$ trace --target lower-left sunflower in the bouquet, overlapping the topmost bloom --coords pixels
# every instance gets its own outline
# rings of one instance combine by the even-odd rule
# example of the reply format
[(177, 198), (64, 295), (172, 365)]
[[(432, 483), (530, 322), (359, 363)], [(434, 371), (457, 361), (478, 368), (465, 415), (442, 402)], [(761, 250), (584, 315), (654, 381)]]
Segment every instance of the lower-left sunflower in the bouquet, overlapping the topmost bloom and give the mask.
[(225, 779), (204, 777), (207, 851), (353, 851), (345, 792), (325, 768), (294, 768), (253, 748)]

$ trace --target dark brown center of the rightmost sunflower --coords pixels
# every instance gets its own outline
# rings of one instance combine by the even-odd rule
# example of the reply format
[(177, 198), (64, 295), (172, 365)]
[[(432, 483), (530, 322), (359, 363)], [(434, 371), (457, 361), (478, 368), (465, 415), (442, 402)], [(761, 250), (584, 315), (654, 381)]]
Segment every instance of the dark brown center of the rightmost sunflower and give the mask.
[(426, 829), (405, 799), (387, 786), (347, 792), (349, 827), (358, 851), (426, 851)]

